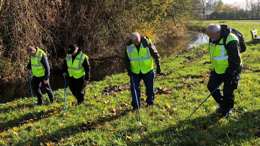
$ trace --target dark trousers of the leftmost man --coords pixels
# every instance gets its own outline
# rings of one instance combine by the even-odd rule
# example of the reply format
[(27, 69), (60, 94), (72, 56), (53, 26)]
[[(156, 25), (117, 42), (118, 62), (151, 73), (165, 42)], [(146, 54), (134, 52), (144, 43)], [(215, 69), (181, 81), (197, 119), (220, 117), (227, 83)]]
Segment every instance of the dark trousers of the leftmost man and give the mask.
[(45, 87), (45, 91), (47, 92), (48, 94), (48, 97), (50, 99), (50, 102), (54, 102), (54, 95), (53, 95), (53, 92), (50, 88), (50, 83), (49, 83), (49, 79), (48, 79), (48, 83), (47, 84), (44, 84), (43, 83), (43, 79), (44, 79), (44, 76), (43, 77), (36, 77), (34, 76), (33, 77), (33, 90), (38, 98), (38, 103), (43, 103), (43, 98), (42, 98), (42, 92), (40, 90), (40, 87), (41, 85), (43, 84), (43, 86)]

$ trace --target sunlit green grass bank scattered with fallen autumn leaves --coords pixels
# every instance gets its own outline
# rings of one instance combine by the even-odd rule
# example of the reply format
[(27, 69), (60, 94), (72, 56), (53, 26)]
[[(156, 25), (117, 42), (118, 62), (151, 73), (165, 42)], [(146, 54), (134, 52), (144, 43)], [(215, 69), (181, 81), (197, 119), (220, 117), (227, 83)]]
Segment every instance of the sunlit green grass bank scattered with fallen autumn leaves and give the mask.
[[(216, 23), (207, 21), (207, 23)], [(259, 29), (260, 24), (226, 23), (245, 35)], [(85, 104), (67, 92), (67, 109), (63, 114), (64, 89), (54, 92), (57, 103), (32, 109), (31, 98), (0, 104), (1, 145), (259, 145), (260, 116), (260, 44), (249, 44), (242, 54), (245, 68), (239, 88), (235, 91), (235, 110), (228, 119), (215, 114), (218, 106), (210, 97), (189, 119), (192, 111), (208, 95), (207, 81), (210, 64), (208, 45), (190, 52), (163, 58), (161, 77), (155, 78), (154, 88), (164, 89), (155, 95), (153, 107), (141, 102), (141, 117), (130, 112), (129, 90), (101, 95), (109, 85), (129, 82), (126, 73), (107, 76), (86, 87)], [(186, 58), (191, 58), (187, 61)], [(63, 83), (61, 83), (63, 84)], [(141, 84), (141, 98), (145, 87)], [(95, 94), (97, 96), (95, 96)], [(36, 101), (36, 98), (34, 98)], [(166, 103), (170, 107), (166, 107)], [(70, 106), (71, 105), (71, 106)], [(25, 107), (25, 108), (24, 108)], [(139, 122), (142, 122), (141, 125)]]

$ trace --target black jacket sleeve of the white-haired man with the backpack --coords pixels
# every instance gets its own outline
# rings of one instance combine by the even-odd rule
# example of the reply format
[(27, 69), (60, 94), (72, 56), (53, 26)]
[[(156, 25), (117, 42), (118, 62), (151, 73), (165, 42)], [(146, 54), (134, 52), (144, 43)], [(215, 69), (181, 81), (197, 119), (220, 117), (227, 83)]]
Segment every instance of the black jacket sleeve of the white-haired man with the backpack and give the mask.
[(229, 66), (226, 68), (225, 73), (234, 75), (237, 69), (240, 67), (241, 62), (241, 58), (239, 56), (240, 45), (238, 41), (233, 40), (228, 42), (226, 46)]

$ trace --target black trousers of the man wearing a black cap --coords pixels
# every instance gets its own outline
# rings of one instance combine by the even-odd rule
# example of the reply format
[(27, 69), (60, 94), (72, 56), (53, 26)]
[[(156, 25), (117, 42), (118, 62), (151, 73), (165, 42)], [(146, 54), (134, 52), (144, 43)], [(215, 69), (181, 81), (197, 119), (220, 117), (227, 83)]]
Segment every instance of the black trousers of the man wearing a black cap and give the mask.
[(69, 77), (69, 89), (77, 99), (77, 103), (82, 103), (85, 100), (85, 88), (84, 84), (85, 75), (80, 78)]

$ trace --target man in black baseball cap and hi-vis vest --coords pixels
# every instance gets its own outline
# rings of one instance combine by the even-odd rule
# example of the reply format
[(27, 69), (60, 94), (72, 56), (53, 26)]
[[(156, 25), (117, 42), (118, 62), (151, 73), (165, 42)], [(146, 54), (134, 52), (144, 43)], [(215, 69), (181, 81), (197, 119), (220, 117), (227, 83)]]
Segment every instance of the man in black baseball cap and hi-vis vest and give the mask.
[(66, 71), (69, 72), (69, 89), (77, 99), (77, 104), (85, 100), (85, 87), (90, 79), (90, 65), (88, 56), (75, 44), (70, 44), (68, 53), (64, 60), (62, 72), (66, 78)]

